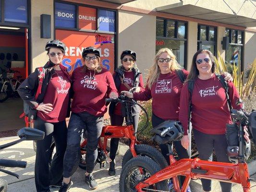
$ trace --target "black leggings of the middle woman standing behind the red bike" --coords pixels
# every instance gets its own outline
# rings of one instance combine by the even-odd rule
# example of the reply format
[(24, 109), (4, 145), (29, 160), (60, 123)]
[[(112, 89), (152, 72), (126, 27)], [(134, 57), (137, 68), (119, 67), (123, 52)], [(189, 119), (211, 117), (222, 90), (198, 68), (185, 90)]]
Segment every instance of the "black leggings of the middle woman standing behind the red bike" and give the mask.
[[(139, 114), (133, 116), (134, 118), (134, 132), (137, 132), (138, 122), (139, 122)], [(110, 116), (111, 125), (121, 126), (123, 123), (122, 115), (111, 115)], [(110, 139), (110, 159), (113, 161), (116, 158), (116, 152), (118, 149), (119, 138), (111, 138)]]

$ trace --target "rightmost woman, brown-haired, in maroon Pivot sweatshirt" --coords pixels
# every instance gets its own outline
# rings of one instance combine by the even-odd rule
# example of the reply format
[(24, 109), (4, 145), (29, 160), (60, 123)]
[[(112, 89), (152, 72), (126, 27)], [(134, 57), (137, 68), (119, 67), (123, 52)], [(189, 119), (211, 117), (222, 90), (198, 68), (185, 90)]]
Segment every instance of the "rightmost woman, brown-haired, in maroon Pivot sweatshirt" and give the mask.
[[(211, 160), (215, 151), (218, 161), (229, 162), (227, 156), (226, 124), (232, 123), (228, 102), (223, 85), (215, 75), (216, 64), (213, 54), (208, 50), (199, 50), (192, 60), (187, 81), (194, 81), (192, 92), (192, 127), (195, 144), (202, 160)], [(232, 82), (228, 82), (229, 98), (232, 108), (241, 109), (235, 102), (239, 94)], [(189, 110), (188, 83), (185, 83), (180, 100), (179, 120), (184, 128), (181, 140), (185, 149), (189, 146), (187, 135)], [(211, 191), (211, 180), (201, 179), (203, 190)], [(231, 192), (232, 183), (220, 182), (222, 192)]]

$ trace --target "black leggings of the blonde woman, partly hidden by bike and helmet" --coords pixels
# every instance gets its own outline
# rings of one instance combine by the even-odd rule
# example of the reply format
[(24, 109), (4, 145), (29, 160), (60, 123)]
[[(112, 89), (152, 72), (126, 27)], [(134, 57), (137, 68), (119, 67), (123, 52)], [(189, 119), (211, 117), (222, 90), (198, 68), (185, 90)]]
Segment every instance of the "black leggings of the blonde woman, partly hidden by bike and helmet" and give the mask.
[[(165, 120), (157, 117), (156, 115), (152, 114), (152, 127), (158, 126), (160, 123), (164, 122)], [(176, 149), (176, 152), (180, 159), (189, 158), (188, 151), (182, 146), (181, 141), (175, 141), (172, 142), (174, 144), (174, 147)], [(168, 147), (166, 144), (159, 144), (159, 147), (161, 149), (162, 155), (166, 159), (168, 165), (170, 165), (170, 159), (167, 155), (169, 153)], [(185, 176), (181, 176), (181, 184), (183, 184), (185, 180)]]

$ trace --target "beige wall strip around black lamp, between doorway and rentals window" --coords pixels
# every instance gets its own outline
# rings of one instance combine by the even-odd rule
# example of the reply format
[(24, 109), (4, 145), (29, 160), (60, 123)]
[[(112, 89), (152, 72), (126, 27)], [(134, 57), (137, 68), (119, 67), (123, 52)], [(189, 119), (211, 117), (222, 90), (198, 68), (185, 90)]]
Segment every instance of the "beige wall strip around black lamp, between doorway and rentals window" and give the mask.
[(31, 0), (31, 71), (43, 66), (49, 59), (45, 45), (50, 39), (40, 38), (40, 15), (51, 15), (51, 38), (53, 38), (53, 0)]

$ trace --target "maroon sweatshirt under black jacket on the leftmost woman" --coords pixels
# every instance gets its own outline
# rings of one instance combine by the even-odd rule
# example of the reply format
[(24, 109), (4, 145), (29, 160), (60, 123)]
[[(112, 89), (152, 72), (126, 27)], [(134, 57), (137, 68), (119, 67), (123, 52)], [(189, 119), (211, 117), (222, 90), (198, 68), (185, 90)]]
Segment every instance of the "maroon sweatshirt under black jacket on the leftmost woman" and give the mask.
[[(55, 71), (56, 72), (56, 71)], [(43, 103), (52, 104), (53, 110), (49, 114), (37, 111), (37, 116), (47, 122), (60, 122), (67, 116), (69, 103), (70, 80), (63, 71), (54, 73), (47, 86)]]

